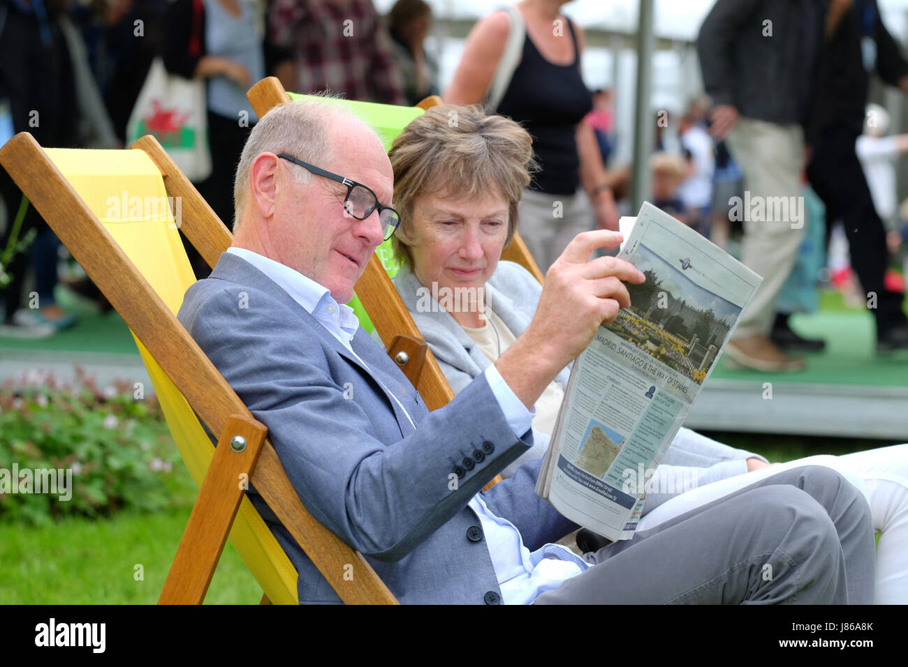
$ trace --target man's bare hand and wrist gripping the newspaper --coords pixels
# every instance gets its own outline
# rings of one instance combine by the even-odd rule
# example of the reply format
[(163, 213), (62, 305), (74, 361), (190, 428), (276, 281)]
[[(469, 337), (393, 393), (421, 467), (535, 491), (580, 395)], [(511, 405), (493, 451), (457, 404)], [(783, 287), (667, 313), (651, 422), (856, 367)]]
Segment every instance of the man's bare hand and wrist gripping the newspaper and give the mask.
[(625, 260), (587, 261), (593, 250), (617, 246), (621, 240), (616, 231), (577, 234), (548, 270), (527, 330), (495, 362), (508, 387), (529, 409), (548, 383), (587, 348), (599, 325), (630, 306), (624, 282), (646, 280)]

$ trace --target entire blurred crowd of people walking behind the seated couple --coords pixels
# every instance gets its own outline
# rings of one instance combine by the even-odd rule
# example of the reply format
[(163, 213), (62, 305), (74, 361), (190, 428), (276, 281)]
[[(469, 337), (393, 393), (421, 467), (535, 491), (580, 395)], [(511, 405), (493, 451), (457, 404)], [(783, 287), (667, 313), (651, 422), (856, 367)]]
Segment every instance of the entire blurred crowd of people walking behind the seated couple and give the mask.
[[(361, 101), (442, 94), (507, 115), (533, 136), (538, 169), (519, 231), (546, 270), (577, 232), (617, 229), (619, 211), (633, 214), (629, 165), (616, 158), (618, 133), (631, 128), (616, 126), (613, 91), (587, 88), (583, 30), (561, 14), (564, 4), (523, 0), (480, 19), (442, 93), (424, 46), (432, 15), (423, 0), (399, 0), (384, 17), (371, 0), (0, 0), (0, 142), (28, 131), (46, 146), (122, 147), (160, 56), (170, 74), (205, 82), (212, 170), (196, 184), (231, 226), (235, 165), (256, 122), (245, 93), (263, 76)], [(765, 16), (772, 39), (747, 15)], [(885, 110), (864, 108), (873, 73), (908, 91), (908, 61), (875, 0), (716, 0), (698, 52), (706, 95), (655, 113), (647, 199), (764, 276), (727, 356), (746, 368), (797, 370), (804, 359), (788, 350), (823, 348), (788, 325), (809, 305), (786, 304), (805, 302), (790, 298), (794, 277), (815, 285), (816, 254), (838, 220), (856, 279), (876, 295), (877, 349), (908, 348), (904, 281), (891, 270), (908, 244), (894, 175), (908, 135), (888, 136)], [(51, 336), (75, 322), (54, 302), (59, 243), (5, 172), (0, 191), (0, 335)], [(745, 191), (804, 197), (812, 214), (804, 229), (737, 220), (732, 201)], [(823, 242), (810, 245), (814, 232)], [(207, 274), (199, 260), (193, 268)], [(24, 301), (29, 270), (34, 303)], [(104, 300), (87, 280), (73, 287)]]

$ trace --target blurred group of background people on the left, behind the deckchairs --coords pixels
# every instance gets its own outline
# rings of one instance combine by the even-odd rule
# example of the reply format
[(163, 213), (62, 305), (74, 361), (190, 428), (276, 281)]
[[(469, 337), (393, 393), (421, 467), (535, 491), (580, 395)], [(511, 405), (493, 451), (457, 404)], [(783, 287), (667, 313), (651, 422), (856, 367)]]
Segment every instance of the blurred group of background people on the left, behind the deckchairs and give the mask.
[[(384, 18), (371, 0), (0, 0), (0, 143), (26, 131), (44, 146), (122, 148), (161, 57), (168, 74), (205, 83), (212, 168), (196, 186), (230, 227), (252, 83), (271, 74), (291, 91), (415, 104), (439, 92), (430, 25), (423, 0)], [(59, 241), (5, 172), (0, 192), (0, 335), (53, 336), (76, 322), (54, 300)], [(70, 287), (106, 307), (77, 272)]]

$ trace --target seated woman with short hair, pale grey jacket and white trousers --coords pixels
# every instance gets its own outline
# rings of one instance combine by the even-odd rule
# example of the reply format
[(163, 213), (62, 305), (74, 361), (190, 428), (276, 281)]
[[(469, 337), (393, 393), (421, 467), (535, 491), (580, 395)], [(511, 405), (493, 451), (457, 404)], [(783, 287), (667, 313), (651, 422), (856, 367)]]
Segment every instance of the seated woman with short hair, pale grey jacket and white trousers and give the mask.
[[(401, 219), (393, 243), (404, 261), (394, 284), (455, 393), (508, 349), (537, 308), (538, 280), (518, 264), (499, 261), (516, 231), (520, 195), (534, 167), (531, 143), (513, 121), (479, 107), (445, 105), (410, 123), (390, 152)], [(569, 368), (562, 370), (536, 404), (536, 445), (502, 475), (545, 453), (568, 374)], [(874, 528), (883, 533), (877, 602), (908, 602), (908, 445), (785, 466), (809, 463), (836, 468), (864, 491)], [(646, 495), (640, 528), (776, 470), (762, 456), (682, 427), (656, 468), (656, 493)], [(695, 480), (696, 489), (679, 493), (685, 490), (679, 480)]]

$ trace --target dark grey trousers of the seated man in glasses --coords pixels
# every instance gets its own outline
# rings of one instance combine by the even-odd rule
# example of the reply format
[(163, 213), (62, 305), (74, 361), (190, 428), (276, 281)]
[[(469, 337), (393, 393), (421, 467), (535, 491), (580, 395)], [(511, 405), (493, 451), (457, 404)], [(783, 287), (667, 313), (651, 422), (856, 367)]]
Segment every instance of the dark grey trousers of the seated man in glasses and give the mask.
[(632, 540), (536, 603), (873, 603), (870, 507), (823, 466), (792, 468)]

